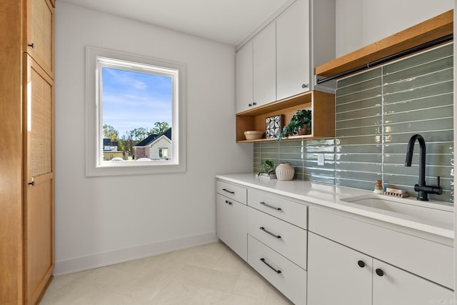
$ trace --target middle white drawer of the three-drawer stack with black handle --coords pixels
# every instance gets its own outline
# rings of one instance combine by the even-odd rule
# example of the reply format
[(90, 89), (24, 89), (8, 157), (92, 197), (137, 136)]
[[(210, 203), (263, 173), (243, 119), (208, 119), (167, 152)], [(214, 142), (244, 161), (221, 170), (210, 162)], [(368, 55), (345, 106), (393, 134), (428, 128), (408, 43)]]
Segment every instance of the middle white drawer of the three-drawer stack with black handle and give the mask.
[(306, 230), (248, 207), (248, 234), (306, 269)]

